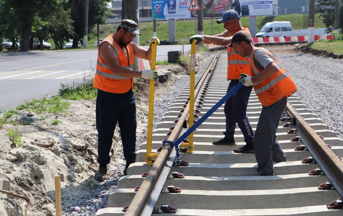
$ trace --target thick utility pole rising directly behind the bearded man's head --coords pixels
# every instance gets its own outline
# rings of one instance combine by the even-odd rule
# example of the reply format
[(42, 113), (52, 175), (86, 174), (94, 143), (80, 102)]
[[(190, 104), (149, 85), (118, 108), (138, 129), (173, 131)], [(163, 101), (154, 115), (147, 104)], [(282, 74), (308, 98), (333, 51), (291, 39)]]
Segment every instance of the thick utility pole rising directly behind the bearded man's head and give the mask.
[[(125, 0), (122, 1), (121, 7), (121, 18), (122, 19), (131, 19), (139, 25), (139, 0)], [(139, 45), (139, 35), (133, 39), (133, 42)], [(138, 70), (139, 68), (139, 59), (134, 58), (133, 68)]]

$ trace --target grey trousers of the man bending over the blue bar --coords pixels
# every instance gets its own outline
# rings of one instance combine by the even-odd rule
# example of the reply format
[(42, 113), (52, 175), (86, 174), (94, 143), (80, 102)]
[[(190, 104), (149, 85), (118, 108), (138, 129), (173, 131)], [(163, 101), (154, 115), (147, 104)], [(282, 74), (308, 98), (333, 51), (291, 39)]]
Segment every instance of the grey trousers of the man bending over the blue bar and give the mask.
[(273, 162), (288, 161), (275, 135), (286, 103), (283, 97), (268, 107), (262, 106), (253, 139), (257, 173), (261, 176), (274, 175)]

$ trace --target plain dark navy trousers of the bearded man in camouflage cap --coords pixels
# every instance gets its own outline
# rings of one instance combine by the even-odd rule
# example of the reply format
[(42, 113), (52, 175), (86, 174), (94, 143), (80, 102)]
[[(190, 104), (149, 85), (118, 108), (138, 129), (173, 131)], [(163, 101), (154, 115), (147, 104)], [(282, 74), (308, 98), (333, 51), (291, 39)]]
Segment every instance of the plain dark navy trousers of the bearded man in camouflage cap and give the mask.
[(134, 163), (136, 160), (137, 119), (133, 92), (130, 90), (124, 94), (113, 94), (98, 90), (95, 114), (99, 165), (106, 166), (110, 162), (109, 153), (117, 122), (126, 163)]

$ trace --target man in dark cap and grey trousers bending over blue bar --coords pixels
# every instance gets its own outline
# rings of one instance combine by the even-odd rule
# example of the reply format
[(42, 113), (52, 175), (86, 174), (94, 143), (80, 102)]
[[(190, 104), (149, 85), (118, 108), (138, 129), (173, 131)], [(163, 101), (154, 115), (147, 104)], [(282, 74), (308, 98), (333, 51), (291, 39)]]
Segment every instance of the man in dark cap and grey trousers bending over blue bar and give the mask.
[(288, 161), (275, 133), (286, 108), (287, 97), (297, 90), (297, 86), (276, 58), (268, 50), (255, 47), (245, 31), (235, 33), (229, 46), (250, 59), (252, 75), (242, 74), (239, 80), (245, 86), (254, 86), (262, 104), (253, 140), (257, 173), (274, 175), (273, 162)]

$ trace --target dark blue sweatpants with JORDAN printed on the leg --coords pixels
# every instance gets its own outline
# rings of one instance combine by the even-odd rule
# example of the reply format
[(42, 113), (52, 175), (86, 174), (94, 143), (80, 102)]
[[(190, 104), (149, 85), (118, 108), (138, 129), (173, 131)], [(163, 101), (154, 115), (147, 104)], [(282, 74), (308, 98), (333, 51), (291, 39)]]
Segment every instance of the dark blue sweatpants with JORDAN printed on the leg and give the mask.
[[(238, 80), (231, 80), (227, 88), (229, 92), (238, 84)], [(252, 86), (242, 86), (232, 97), (226, 100), (224, 105), (226, 131), (223, 132), (225, 138), (234, 138), (236, 123), (242, 131), (244, 141), (252, 147), (254, 133), (250, 126), (250, 121), (247, 115), (248, 100)]]

